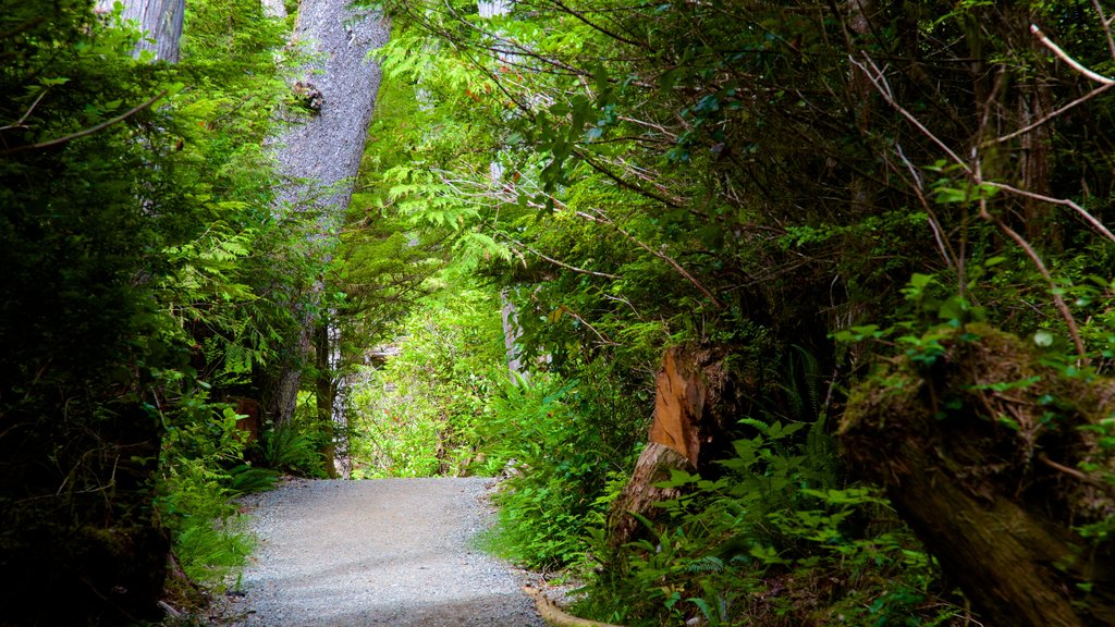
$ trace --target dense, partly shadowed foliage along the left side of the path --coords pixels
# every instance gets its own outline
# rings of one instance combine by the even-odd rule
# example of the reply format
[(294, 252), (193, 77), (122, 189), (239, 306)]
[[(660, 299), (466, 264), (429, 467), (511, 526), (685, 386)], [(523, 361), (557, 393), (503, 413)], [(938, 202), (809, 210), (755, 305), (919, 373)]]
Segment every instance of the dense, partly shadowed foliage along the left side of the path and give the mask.
[(244, 464), (236, 399), (320, 272), (264, 154), (289, 25), (188, 2), (168, 65), (119, 10), (0, 7), (6, 624), (157, 618), (167, 572), (188, 602), (243, 561), (229, 496), (274, 474)]

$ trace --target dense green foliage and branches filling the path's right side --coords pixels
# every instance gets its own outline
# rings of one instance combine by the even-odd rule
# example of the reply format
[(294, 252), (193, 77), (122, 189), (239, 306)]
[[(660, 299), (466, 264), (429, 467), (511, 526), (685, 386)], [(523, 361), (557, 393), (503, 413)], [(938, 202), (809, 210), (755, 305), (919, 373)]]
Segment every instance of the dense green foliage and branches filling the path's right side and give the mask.
[[(455, 229), (553, 377), (492, 422), (544, 451), (502, 496), (508, 552), (569, 563), (597, 533), (586, 607), (634, 625), (966, 620), (831, 434), (879, 356), (932, 376), (973, 320), (1109, 368), (1103, 3), (384, 4), (423, 103), (391, 200)], [(581, 454), (638, 436), (675, 345), (729, 356), (737, 440), (612, 547), (592, 529), (634, 451)], [(555, 395), (589, 379), (621, 406)]]

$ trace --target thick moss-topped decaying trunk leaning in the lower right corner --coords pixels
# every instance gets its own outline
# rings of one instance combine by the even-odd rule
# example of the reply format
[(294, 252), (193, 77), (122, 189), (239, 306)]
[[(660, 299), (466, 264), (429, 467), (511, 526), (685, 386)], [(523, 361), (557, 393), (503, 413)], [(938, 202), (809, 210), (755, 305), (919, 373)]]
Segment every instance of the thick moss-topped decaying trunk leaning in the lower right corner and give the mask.
[(932, 366), (905, 360), (853, 390), (847, 460), (991, 624), (1115, 625), (1113, 542), (1077, 532), (1115, 505), (1099, 471), (1077, 470), (1115, 467), (1086, 428), (1115, 409), (1115, 382), (1065, 378), (986, 326), (942, 344)]

